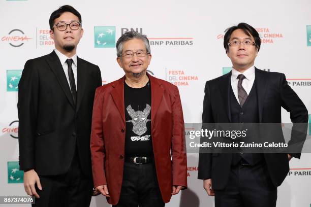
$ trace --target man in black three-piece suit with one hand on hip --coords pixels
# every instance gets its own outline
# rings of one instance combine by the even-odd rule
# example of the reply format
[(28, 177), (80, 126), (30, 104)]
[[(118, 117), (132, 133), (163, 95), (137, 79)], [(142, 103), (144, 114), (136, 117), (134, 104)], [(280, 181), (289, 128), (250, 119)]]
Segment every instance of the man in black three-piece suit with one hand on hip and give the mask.
[[(206, 82), (203, 123), (281, 123), (281, 107), (293, 123), (307, 123), (307, 110), (285, 75), (254, 66), (260, 43), (256, 29), (246, 23), (227, 30), (224, 47), (232, 71)], [(305, 130), (290, 142), (304, 140)], [(198, 179), (208, 195), (215, 195), (216, 207), (275, 206), (292, 156), (300, 153), (200, 153)]]

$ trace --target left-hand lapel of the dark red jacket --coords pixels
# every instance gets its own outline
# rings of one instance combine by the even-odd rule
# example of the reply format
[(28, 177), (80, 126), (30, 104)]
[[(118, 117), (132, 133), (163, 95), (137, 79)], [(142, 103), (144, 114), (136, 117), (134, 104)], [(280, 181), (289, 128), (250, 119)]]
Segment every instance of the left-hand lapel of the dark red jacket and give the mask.
[(123, 123), (125, 124), (125, 109), (124, 109), (124, 80), (125, 76), (120, 78), (115, 85), (113, 85), (113, 89), (111, 90), (110, 94), (114, 101), (115, 106), (117, 107)]

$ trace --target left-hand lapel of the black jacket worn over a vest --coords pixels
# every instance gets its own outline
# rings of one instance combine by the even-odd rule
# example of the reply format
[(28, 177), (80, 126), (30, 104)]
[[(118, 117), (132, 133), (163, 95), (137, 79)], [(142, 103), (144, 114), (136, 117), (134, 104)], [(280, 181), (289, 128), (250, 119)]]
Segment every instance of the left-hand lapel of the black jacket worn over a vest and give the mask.
[(231, 122), (230, 99), (229, 99), (230, 87), (231, 87), (230, 78), (231, 78), (231, 72), (223, 76), (223, 79), (221, 80), (220, 87), (219, 87), (222, 97), (223, 97), (223, 103), (225, 105), (226, 114), (229, 119), (229, 122)]

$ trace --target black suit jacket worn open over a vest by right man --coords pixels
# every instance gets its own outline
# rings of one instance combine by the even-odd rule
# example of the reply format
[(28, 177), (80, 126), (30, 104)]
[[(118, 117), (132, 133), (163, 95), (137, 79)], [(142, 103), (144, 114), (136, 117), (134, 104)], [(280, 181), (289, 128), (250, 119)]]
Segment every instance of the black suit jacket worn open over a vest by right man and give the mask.
[[(203, 123), (231, 122), (230, 79), (231, 72), (206, 82)], [(293, 123), (307, 123), (308, 112), (301, 99), (288, 85), (284, 74), (265, 72), (255, 68), (255, 80), (260, 123), (281, 123), (281, 107), (290, 112)], [(303, 130), (306, 132), (306, 127)], [(306, 137), (306, 133), (299, 135), (300, 137), (297, 137), (292, 134), (290, 142), (299, 142)], [(284, 140), (283, 134), (281, 136)], [(300, 158), (300, 154), (292, 155)], [(264, 158), (272, 183), (275, 186), (281, 185), (289, 171), (287, 154), (264, 154)], [(198, 179), (211, 178), (213, 189), (224, 189), (228, 182), (231, 160), (232, 154), (229, 153), (200, 153)]]

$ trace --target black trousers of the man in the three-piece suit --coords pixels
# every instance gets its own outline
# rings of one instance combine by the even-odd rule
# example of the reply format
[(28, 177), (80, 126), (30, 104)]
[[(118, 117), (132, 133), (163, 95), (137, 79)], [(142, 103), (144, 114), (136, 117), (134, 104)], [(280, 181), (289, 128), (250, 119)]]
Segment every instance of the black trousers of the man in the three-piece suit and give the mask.
[(265, 162), (231, 166), (224, 190), (215, 190), (215, 207), (275, 207), (277, 188)]

